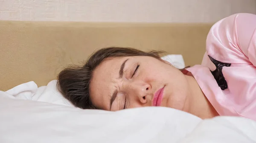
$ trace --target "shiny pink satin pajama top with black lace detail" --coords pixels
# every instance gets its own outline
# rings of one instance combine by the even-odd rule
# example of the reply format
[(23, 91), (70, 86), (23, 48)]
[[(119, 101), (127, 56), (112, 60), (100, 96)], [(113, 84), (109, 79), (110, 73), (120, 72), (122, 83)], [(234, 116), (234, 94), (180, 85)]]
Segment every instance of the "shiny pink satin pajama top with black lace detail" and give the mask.
[(234, 14), (215, 23), (202, 64), (186, 70), (219, 115), (256, 120), (256, 15)]

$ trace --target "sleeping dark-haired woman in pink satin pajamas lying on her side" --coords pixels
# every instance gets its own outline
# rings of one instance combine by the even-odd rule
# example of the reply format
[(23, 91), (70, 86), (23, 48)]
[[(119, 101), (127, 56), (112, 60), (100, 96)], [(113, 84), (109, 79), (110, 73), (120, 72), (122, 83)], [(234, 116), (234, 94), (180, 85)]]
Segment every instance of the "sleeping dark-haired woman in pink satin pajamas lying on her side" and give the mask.
[(61, 71), (57, 86), (82, 109), (161, 106), (202, 119), (256, 120), (256, 15), (218, 21), (206, 43), (201, 65), (183, 70), (160, 59), (160, 51), (102, 48), (83, 66)]

